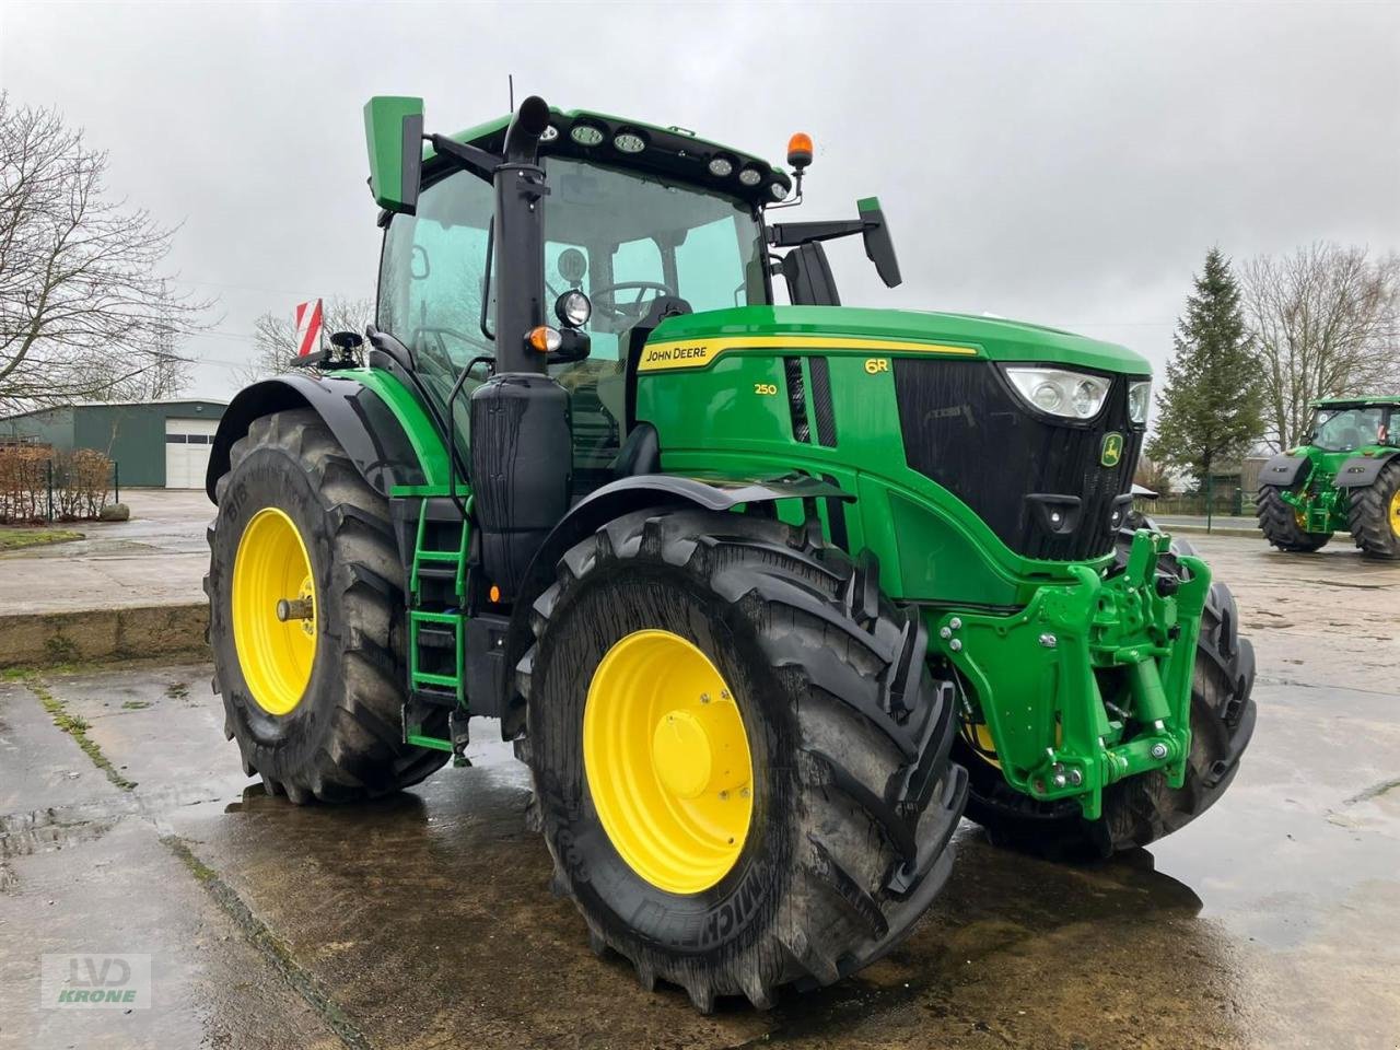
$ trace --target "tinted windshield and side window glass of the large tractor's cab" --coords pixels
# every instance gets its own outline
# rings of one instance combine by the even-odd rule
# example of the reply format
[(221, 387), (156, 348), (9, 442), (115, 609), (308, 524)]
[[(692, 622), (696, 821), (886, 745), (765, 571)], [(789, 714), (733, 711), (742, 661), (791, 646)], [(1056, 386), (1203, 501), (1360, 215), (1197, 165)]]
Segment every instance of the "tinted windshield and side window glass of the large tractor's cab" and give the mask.
[[(570, 288), (592, 301), (589, 357), (550, 368), (574, 402), (575, 477), (587, 479), (622, 444), (631, 329), (664, 295), (692, 311), (769, 302), (763, 228), (743, 202), (655, 175), (564, 157), (545, 158), (545, 323), (559, 323), (553, 304)], [(393, 216), (379, 265), (375, 323), (409, 347), (434, 399), (445, 403), (472, 370), (452, 406), (463, 448), (466, 400), (496, 354), (494, 203), (491, 185), (470, 172), (433, 182), (417, 214)]]

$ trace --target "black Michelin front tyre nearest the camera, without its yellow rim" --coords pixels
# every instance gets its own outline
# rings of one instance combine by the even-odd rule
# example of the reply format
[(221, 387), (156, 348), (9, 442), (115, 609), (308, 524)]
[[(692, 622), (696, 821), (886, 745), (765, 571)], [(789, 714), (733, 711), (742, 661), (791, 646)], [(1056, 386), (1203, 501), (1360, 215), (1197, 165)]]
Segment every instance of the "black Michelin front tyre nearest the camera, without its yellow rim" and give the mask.
[[(948, 760), (952, 694), (917, 616), (802, 529), (738, 514), (641, 511), (574, 546), (535, 603), (521, 661), (554, 886), (595, 951), (638, 980), (766, 1008), (778, 986), (830, 984), (879, 958), (952, 867), (965, 774)], [(696, 645), (729, 683), (752, 753), (752, 822), (732, 867), (693, 893), (643, 878), (598, 813), (584, 756), (589, 683), (637, 631)], [(659, 773), (658, 773), (659, 776)]]

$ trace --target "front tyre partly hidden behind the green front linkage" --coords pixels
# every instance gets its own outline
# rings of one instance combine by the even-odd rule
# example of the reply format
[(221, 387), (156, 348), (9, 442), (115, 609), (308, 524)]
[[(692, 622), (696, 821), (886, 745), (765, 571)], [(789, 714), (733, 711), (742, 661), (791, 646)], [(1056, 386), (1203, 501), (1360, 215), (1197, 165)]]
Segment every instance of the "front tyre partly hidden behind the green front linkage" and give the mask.
[[(1126, 564), (1131, 521), (1119, 533), (1117, 553)], [(1194, 554), (1186, 540), (1173, 540), (1175, 554)], [(1173, 556), (1158, 571), (1180, 577)], [(967, 816), (997, 846), (1049, 860), (1109, 857), (1147, 846), (1190, 823), (1225, 792), (1239, 769), (1240, 755), (1254, 732), (1254, 650), (1239, 637), (1235, 596), (1222, 582), (1212, 582), (1201, 615), (1191, 683), (1191, 753), (1186, 783), (1172, 788), (1162, 773), (1147, 773), (1110, 784), (1103, 791), (1103, 818), (1085, 820), (1078, 802), (1042, 802), (1012, 788), (1001, 770), (983, 759), (959, 735), (953, 757), (967, 767)]]

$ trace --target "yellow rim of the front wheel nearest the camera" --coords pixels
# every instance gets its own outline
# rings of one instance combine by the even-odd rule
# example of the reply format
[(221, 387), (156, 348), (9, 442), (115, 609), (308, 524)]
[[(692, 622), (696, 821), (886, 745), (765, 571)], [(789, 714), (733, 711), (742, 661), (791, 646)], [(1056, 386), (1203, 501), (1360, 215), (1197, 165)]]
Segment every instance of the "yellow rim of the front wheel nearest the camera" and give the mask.
[(679, 634), (636, 631), (603, 655), (584, 706), (584, 774), (613, 847), (652, 886), (699, 893), (739, 860), (749, 736), (734, 692)]

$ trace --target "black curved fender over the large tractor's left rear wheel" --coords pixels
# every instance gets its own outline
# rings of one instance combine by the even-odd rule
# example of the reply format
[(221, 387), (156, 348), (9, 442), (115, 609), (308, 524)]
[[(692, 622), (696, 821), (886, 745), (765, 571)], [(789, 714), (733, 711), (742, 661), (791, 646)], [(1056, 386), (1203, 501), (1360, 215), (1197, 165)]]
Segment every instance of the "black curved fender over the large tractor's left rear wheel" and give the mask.
[(244, 388), (224, 410), (204, 475), (204, 491), (213, 503), (218, 503), (214, 487), (228, 472), (234, 442), (259, 416), (288, 409), (312, 409), (321, 416), (364, 480), (381, 496), (388, 496), (395, 484), (426, 482), (403, 424), (372, 389), (353, 378), (280, 375)]

